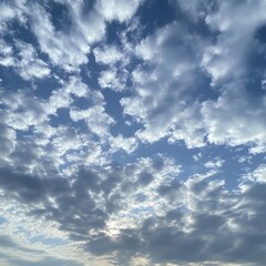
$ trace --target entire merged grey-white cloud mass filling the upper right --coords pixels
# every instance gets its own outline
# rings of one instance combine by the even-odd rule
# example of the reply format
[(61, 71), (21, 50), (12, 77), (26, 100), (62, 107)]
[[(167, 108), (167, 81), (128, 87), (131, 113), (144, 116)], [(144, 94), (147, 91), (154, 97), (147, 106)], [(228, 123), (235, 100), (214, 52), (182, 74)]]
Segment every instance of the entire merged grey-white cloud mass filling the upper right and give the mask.
[[(250, 144), (252, 153), (264, 152), (265, 98), (256, 96), (263, 94), (263, 86), (252, 92), (256, 86), (253, 79), (263, 84), (264, 73), (259, 66), (254, 70), (248, 58), (260, 54), (264, 47), (255, 34), (265, 14), (252, 16), (250, 23), (243, 24), (239, 17), (247, 17), (248, 10), (255, 8), (250, 2), (223, 2), (216, 8), (207, 8), (205, 1), (175, 4), (188, 13), (203, 10), (197, 20), (218, 30), (217, 39), (195, 35), (186, 25), (174, 22), (140, 42), (135, 54), (146, 68), (133, 71), (135, 94), (121, 100), (124, 113), (144, 126), (136, 135), (151, 143), (162, 137), (170, 143), (184, 140), (187, 147), (204, 146), (206, 141), (233, 146)], [(264, 4), (255, 3), (259, 10)], [(231, 19), (228, 10), (234, 9), (239, 9), (239, 17)], [(200, 83), (208, 79), (205, 74), (212, 78), (211, 86)], [(217, 100), (201, 100), (202, 90), (209, 95), (217, 93)]]

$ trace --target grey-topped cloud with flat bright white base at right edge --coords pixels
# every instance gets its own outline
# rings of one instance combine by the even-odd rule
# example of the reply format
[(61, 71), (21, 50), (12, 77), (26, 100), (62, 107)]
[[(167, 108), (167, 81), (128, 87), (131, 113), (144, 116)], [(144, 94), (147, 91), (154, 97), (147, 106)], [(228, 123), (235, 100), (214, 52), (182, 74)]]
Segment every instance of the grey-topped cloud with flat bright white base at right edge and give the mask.
[(203, 103), (207, 139), (211, 143), (233, 146), (253, 144), (263, 151), (266, 140), (265, 100), (253, 102), (243, 86), (245, 84), (231, 84), (216, 102)]

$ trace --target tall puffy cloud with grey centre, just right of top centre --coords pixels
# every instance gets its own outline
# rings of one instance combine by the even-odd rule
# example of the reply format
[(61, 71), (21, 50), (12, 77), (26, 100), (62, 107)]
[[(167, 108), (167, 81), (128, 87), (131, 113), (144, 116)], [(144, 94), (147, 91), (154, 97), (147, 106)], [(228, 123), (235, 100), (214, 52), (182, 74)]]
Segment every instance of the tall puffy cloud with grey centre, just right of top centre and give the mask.
[[(178, 34), (176, 34), (176, 32)], [(147, 37), (136, 47), (136, 55), (149, 66), (133, 73), (135, 95), (121, 100), (124, 113), (144, 124), (137, 136), (155, 142), (184, 140), (187, 146), (202, 146), (204, 130), (200, 104), (191, 101), (197, 90), (196, 57), (191, 42), (197, 38), (185, 27), (170, 24)]]

